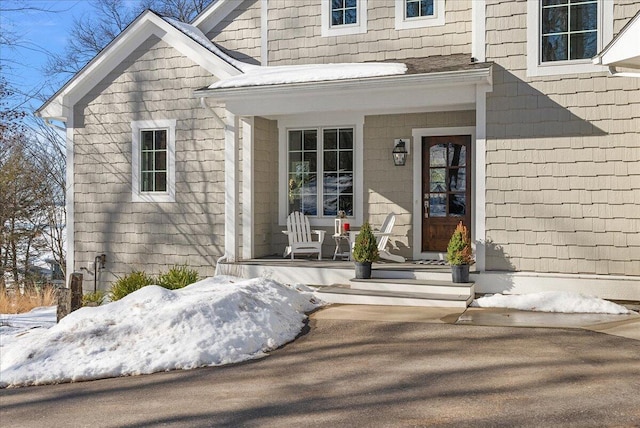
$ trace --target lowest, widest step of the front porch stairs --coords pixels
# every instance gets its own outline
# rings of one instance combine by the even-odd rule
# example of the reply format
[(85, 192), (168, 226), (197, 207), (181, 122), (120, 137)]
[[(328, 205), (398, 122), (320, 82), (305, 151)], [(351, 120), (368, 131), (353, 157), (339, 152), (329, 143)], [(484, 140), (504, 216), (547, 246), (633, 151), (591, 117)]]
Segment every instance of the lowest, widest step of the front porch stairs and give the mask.
[(466, 308), (473, 301), (467, 292), (459, 294), (412, 293), (354, 289), (348, 285), (319, 287), (316, 296), (329, 303), (382, 306)]

